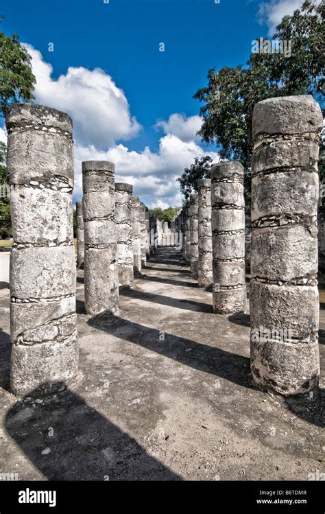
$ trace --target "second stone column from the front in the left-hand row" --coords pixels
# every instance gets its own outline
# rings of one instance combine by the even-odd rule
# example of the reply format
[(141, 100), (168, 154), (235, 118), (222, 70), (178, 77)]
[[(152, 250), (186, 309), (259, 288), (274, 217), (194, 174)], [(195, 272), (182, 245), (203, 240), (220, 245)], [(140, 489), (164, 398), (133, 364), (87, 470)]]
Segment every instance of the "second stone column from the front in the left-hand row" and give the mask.
[(115, 224), (115, 165), (82, 163), (84, 299), (86, 313), (115, 312), (119, 300)]

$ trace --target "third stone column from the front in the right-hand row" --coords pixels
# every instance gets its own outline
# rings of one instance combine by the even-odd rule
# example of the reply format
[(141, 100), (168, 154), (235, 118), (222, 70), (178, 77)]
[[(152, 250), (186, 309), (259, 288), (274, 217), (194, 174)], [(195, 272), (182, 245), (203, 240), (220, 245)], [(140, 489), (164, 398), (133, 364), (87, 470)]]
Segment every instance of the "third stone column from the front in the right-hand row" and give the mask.
[(211, 181), (199, 180), (198, 194), (198, 239), (197, 282), (199, 288), (208, 288), (213, 283), (212, 229), (211, 229)]

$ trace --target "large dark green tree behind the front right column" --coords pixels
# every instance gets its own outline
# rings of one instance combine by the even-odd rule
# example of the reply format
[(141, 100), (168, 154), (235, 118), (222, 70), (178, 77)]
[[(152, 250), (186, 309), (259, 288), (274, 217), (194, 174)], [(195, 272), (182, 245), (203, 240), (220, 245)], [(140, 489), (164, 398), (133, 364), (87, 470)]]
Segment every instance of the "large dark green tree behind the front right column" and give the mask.
[[(324, 102), (324, 12), (324, 5), (306, 0), (292, 16), (282, 19), (274, 40), (291, 42), (291, 56), (256, 53), (246, 67), (208, 71), (208, 85), (194, 95), (204, 104), (199, 134), (217, 145), (221, 159), (236, 159), (250, 171), (252, 111), (257, 102), (302, 94)], [(324, 166), (321, 172), (325, 173)]]

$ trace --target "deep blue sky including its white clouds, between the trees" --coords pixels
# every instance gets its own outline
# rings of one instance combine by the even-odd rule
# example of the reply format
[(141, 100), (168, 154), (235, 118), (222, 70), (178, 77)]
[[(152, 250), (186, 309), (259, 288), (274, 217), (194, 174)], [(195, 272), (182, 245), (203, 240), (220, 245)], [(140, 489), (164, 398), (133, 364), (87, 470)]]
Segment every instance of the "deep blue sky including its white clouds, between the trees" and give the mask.
[(192, 96), (208, 69), (244, 64), (252, 40), (273, 34), (298, 4), (2, 0), (0, 13), (5, 34), (30, 45), (36, 101), (73, 117), (75, 199), (82, 194), (80, 161), (108, 159), (149, 207), (164, 207), (180, 205), (176, 177), (195, 156), (217, 160), (217, 149), (195, 136), (200, 104)]

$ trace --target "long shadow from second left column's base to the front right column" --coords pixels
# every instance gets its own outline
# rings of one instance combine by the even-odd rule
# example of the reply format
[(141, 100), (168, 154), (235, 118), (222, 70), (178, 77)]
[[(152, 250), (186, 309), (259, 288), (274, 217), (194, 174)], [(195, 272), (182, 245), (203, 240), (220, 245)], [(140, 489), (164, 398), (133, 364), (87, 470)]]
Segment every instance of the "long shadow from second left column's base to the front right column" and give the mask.
[(193, 369), (222, 377), (243, 387), (255, 388), (248, 375), (250, 360), (247, 357), (167, 333), (165, 340), (160, 340), (159, 330), (125, 320), (115, 314), (99, 314), (90, 318), (87, 323), (91, 327), (139, 344)]

